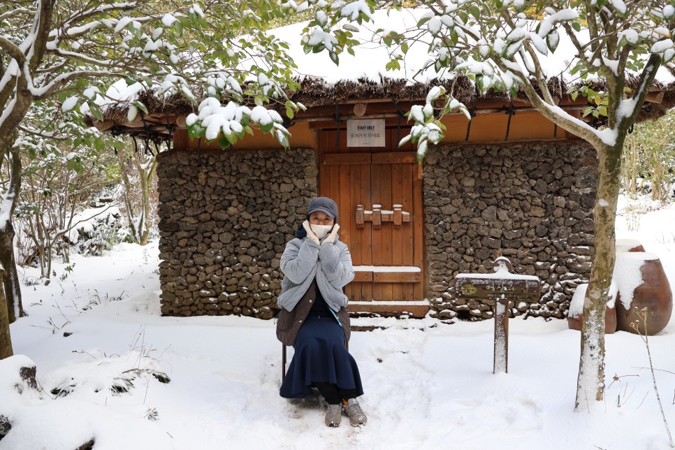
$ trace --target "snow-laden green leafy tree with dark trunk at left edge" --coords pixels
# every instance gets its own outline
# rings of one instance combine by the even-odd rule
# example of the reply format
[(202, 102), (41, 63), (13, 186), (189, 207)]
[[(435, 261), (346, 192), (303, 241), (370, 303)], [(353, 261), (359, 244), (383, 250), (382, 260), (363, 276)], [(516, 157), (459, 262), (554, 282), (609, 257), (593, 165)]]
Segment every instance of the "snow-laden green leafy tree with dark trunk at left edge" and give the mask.
[[(192, 122), (193, 136), (208, 140), (224, 136), (225, 146), (255, 124), (286, 144), (288, 131), (281, 117), (264, 113), (263, 105), (281, 101), (291, 113), (296, 108), (284, 97), (284, 89), (295, 86), (293, 62), (285, 55), (285, 43), (264, 31), (287, 12), (268, 0), (0, 3), (0, 164), (7, 174), (0, 183), (4, 288), (0, 358), (12, 354), (8, 321), (21, 313), (11, 218), (21, 186), (20, 152), (30, 146), (17, 140), (27, 135), (46, 139), (64, 135), (58, 126), (50, 131), (31, 126), (26, 120), (31, 107), (39, 102), (58, 104), (64, 112), (85, 107), (102, 118), (108, 85), (126, 79), (129, 85), (140, 82), (154, 89), (159, 97), (180, 94), (196, 103), (207, 99)], [(210, 119), (209, 112), (219, 108), (231, 113), (228, 120)], [(135, 101), (129, 115), (144, 110)], [(69, 138), (83, 145), (101, 142), (96, 133)]]

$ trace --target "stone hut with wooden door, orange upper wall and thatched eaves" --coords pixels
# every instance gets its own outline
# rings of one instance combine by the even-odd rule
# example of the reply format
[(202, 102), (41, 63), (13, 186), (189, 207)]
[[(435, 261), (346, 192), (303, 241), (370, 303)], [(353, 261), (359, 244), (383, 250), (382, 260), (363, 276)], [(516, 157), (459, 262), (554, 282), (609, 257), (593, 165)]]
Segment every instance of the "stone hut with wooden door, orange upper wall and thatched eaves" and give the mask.
[[(262, 133), (225, 150), (191, 140), (184, 124), (194, 107), (152, 92), (138, 96), (144, 117), (128, 122), (123, 107), (108, 108), (96, 124), (172, 139), (157, 170), (162, 314), (274, 317), (280, 256), (320, 195), (340, 208), (340, 238), (356, 268), (346, 289), (354, 314), (489, 319), (491, 300), (456, 298), (453, 280), (487, 273), (507, 256), (514, 273), (542, 281), (539, 302), (514, 303), (511, 313), (565, 317), (574, 288), (590, 275), (593, 147), (526, 99), (477, 95), (465, 78), (411, 84), (340, 79), (331, 70), (334, 80), (300, 80), (292, 98), (307, 110), (288, 124), (289, 150)], [(551, 83), (560, 108), (581, 117), (586, 99)], [(474, 117), (444, 117), (445, 139), (419, 163), (412, 144), (397, 146), (410, 128), (402, 111), (438, 84), (452, 87)], [(674, 91), (655, 93), (646, 108), (653, 115), (674, 104)], [(358, 126), (379, 137), (354, 138)]]

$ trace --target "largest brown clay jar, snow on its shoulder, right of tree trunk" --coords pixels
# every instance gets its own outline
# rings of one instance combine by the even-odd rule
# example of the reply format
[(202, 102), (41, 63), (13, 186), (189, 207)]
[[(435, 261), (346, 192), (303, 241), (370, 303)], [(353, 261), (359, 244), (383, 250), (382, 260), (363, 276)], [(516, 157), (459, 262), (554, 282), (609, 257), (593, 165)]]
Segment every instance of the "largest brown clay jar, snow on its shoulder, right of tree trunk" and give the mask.
[[(640, 333), (654, 335), (665, 328), (670, 321), (673, 312), (673, 293), (660, 259), (648, 253), (644, 255), (653, 256), (653, 259), (645, 259), (640, 267), (642, 282), (633, 291), (630, 307), (624, 305), (621, 300), (622, 292), (619, 290), (616, 298), (616, 329), (637, 334), (630, 323), (638, 320)], [(619, 263), (618, 258), (617, 263)], [(623, 296), (626, 298), (627, 294), (623, 293)], [(634, 308), (637, 310), (647, 308), (646, 331)]]

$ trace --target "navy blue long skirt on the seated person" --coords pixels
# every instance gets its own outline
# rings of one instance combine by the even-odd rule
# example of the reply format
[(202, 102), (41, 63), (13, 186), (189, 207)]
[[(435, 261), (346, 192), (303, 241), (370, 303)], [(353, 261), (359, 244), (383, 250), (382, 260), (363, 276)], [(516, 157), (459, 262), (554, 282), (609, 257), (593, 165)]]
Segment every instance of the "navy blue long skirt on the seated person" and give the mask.
[(344, 348), (342, 327), (333, 317), (307, 316), (293, 344), (293, 359), (279, 391), (284, 398), (312, 395), (312, 383), (333, 383), (363, 395), (356, 361)]

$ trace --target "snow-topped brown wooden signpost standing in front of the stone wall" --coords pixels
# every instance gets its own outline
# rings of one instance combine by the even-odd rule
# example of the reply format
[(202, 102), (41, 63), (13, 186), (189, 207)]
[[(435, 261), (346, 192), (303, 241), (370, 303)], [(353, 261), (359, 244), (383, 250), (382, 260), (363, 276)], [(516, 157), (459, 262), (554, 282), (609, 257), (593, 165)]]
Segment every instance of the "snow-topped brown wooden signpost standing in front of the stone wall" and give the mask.
[(495, 300), (495, 357), (493, 373), (509, 372), (509, 302), (539, 300), (541, 284), (532, 275), (511, 273), (509, 259), (495, 259), (495, 273), (460, 273), (455, 277), (455, 294), (463, 298)]

